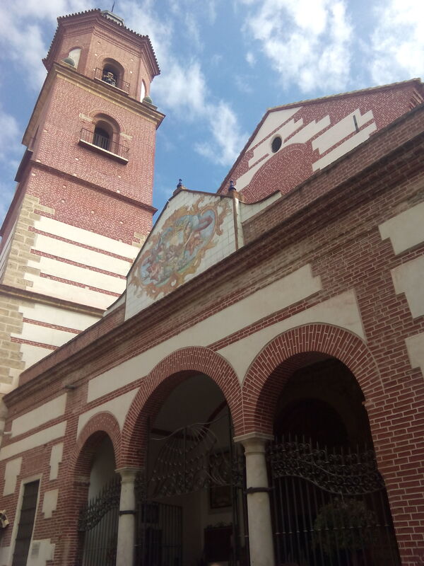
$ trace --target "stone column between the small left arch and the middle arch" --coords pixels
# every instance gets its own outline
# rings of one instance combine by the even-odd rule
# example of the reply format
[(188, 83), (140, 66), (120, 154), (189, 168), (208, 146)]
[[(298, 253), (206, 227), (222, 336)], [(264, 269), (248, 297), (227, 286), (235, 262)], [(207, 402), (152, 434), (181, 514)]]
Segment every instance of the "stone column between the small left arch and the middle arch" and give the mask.
[(116, 566), (134, 564), (136, 544), (136, 495), (134, 485), (139, 468), (119, 468), (121, 475), (121, 500), (119, 502), (119, 524)]

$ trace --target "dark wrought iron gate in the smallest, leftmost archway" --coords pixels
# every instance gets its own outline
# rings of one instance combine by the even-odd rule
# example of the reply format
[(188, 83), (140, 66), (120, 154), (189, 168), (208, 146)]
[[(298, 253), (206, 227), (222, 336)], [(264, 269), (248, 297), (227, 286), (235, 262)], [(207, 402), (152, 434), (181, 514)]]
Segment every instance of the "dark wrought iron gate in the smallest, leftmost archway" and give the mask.
[(121, 479), (116, 478), (83, 507), (78, 519), (78, 566), (115, 566)]

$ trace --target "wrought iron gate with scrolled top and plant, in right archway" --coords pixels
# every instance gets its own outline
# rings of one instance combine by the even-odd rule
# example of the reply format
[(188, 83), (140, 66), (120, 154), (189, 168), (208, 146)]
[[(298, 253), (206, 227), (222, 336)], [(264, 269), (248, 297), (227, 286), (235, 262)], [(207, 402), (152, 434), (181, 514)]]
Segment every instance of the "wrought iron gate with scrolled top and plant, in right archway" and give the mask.
[(278, 565), (400, 566), (374, 451), (283, 439), (268, 460)]

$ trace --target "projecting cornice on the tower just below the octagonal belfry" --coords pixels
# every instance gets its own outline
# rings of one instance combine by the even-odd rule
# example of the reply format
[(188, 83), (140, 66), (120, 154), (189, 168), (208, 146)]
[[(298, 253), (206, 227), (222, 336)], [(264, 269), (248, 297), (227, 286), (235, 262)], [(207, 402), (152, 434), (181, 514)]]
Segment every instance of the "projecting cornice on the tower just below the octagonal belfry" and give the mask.
[(45, 83), (42, 86), (40, 95), (37, 98), (37, 102), (35, 103), (33, 114), (30, 117), (25, 134), (23, 135), (22, 143), (27, 147), (31, 144), (35, 128), (37, 127), (40, 119), (40, 114), (47, 102), (49, 92), (52, 89), (55, 79), (69, 81), (79, 88), (83, 88), (100, 98), (112, 101), (115, 105), (125, 108), (125, 110), (128, 110), (129, 112), (134, 112), (136, 115), (143, 116), (146, 120), (153, 122), (156, 128), (160, 126), (160, 123), (165, 117), (165, 114), (159, 112), (157, 107), (146, 102), (139, 102), (139, 100), (131, 98), (123, 91), (120, 91), (119, 88), (110, 86), (98, 79), (90, 79), (89, 77), (78, 73), (76, 69), (66, 63), (53, 63), (52, 68), (47, 74)]

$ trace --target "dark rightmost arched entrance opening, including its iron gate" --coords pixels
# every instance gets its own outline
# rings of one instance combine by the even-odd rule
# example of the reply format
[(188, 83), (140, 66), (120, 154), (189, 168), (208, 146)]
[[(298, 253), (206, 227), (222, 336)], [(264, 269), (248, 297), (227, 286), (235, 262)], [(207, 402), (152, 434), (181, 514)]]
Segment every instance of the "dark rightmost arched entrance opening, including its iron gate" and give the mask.
[(286, 383), (268, 451), (278, 565), (401, 564), (363, 401), (334, 358)]

